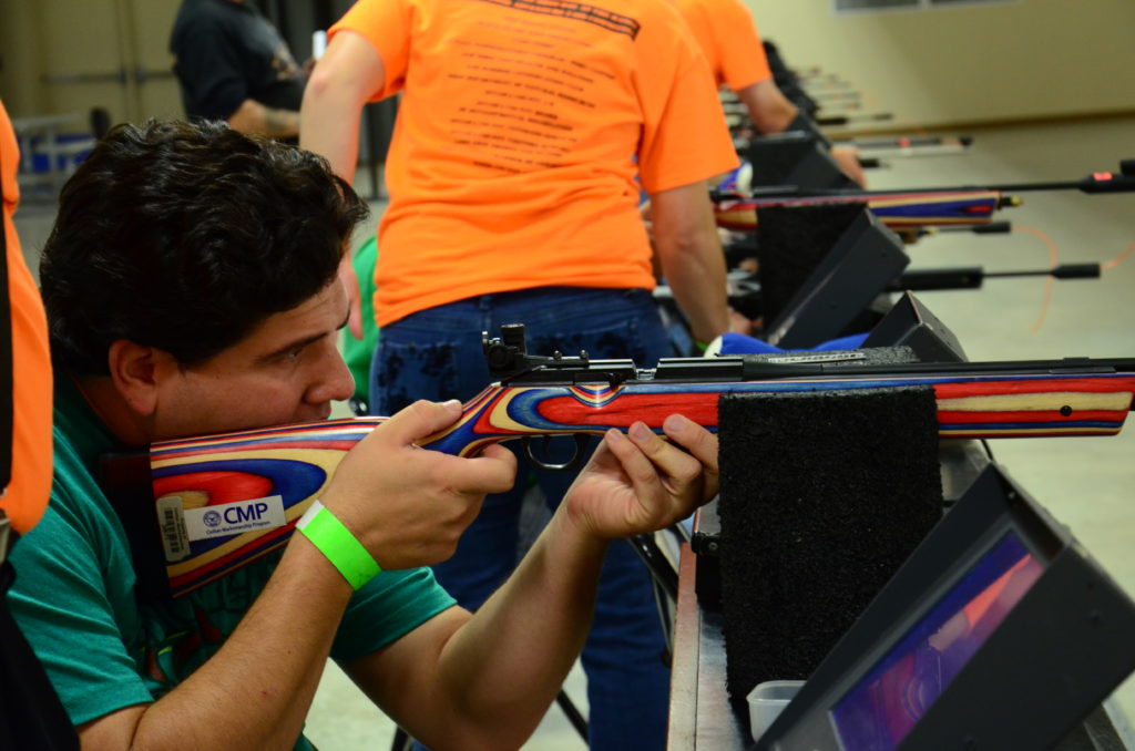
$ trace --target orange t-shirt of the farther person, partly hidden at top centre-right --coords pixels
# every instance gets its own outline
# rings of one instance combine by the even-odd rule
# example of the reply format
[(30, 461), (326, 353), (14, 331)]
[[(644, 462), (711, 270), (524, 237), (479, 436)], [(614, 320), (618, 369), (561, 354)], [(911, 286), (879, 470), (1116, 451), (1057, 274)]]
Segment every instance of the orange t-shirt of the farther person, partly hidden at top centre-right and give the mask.
[(741, 91), (773, 77), (753, 15), (741, 0), (671, 0), (689, 24), (717, 86)]

